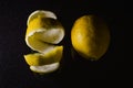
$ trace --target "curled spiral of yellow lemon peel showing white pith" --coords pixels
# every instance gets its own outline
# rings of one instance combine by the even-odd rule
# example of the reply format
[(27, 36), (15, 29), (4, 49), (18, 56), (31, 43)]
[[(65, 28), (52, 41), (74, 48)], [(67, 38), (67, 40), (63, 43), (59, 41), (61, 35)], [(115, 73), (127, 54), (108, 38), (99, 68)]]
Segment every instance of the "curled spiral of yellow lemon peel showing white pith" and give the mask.
[(30, 69), (38, 73), (55, 70), (63, 53), (63, 46), (58, 44), (64, 37), (64, 29), (57, 15), (51, 11), (37, 10), (29, 15), (27, 25), (25, 43), (38, 52), (24, 55)]

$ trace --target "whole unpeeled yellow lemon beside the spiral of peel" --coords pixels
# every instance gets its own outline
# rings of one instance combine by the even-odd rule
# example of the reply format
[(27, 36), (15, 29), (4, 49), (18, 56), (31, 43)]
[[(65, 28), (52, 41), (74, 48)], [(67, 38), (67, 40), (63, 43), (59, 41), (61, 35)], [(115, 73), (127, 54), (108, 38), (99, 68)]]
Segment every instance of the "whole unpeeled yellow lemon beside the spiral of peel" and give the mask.
[(83, 15), (72, 26), (71, 41), (82, 57), (98, 61), (108, 51), (110, 31), (101, 18), (92, 14)]

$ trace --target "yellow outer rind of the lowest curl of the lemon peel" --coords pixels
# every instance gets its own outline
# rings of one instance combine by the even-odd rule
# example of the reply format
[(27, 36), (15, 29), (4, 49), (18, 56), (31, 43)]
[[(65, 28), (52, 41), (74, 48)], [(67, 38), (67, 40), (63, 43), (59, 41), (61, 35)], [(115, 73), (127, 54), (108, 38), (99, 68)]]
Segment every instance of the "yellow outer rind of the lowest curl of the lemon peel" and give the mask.
[(55, 46), (53, 50), (42, 54), (34, 53), (24, 55), (25, 62), (30, 66), (42, 66), (60, 62), (62, 58), (63, 46)]

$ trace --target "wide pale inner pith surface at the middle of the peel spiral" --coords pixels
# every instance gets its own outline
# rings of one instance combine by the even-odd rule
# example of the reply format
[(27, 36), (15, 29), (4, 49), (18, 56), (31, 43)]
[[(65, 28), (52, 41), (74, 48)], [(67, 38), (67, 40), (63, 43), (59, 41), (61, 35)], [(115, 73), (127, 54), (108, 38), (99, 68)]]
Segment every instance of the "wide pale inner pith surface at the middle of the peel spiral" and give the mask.
[[(38, 36), (38, 38), (34, 40), (37, 41), (35, 45), (33, 45), (34, 43), (30, 42), (30, 37), (33, 37), (34, 35)], [(29, 35), (25, 36), (25, 43), (33, 51), (45, 53), (53, 50), (55, 47), (54, 44), (60, 43), (63, 37), (64, 37), (63, 29), (51, 30), (39, 29), (37, 31), (30, 32)]]

